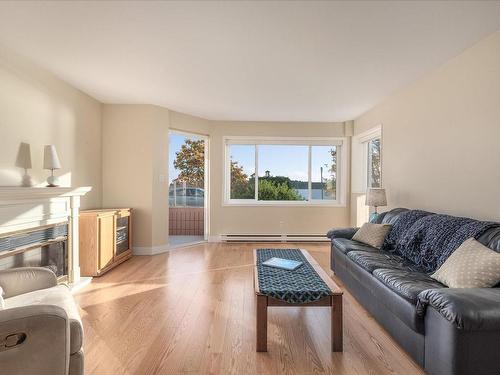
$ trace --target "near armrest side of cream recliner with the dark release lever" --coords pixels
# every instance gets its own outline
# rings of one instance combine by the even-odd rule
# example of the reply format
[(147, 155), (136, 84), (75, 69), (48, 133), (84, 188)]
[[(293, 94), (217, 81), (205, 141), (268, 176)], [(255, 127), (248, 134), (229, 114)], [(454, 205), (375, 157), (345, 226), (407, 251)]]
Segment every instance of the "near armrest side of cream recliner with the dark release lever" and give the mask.
[(0, 310), (0, 332), (2, 373), (68, 373), (70, 330), (61, 307), (31, 305)]

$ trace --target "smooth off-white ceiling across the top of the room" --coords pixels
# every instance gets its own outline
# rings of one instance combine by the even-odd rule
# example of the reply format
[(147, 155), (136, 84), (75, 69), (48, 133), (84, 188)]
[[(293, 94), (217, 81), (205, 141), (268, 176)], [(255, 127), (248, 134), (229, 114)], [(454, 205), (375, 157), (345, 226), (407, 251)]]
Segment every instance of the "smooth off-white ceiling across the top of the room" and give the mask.
[(344, 121), (500, 28), (500, 2), (0, 2), (0, 45), (105, 103)]

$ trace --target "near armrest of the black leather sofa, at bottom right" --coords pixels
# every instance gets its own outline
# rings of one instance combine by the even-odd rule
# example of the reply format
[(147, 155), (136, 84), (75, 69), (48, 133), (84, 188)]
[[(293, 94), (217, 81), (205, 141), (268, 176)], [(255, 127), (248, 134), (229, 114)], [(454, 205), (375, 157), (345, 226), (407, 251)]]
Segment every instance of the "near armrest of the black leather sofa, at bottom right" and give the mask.
[(500, 330), (500, 288), (429, 289), (418, 296), (417, 313), (434, 308), (458, 329)]

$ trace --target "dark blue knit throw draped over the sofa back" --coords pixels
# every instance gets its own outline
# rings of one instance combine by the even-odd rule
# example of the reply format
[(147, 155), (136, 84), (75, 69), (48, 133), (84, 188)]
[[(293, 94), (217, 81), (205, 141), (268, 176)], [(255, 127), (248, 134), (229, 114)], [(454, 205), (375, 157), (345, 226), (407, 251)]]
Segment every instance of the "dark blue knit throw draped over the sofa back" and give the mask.
[(498, 223), (449, 215), (425, 215), (399, 238), (396, 252), (423, 271), (434, 272), (465, 240), (478, 238), (494, 226)]

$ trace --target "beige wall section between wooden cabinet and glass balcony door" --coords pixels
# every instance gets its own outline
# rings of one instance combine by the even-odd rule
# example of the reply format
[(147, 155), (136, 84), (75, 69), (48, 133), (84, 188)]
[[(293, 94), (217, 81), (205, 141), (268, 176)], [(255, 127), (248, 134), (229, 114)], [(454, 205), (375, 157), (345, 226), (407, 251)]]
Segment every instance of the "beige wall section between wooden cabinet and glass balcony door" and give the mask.
[(103, 206), (132, 207), (135, 249), (168, 243), (169, 111), (103, 105)]

